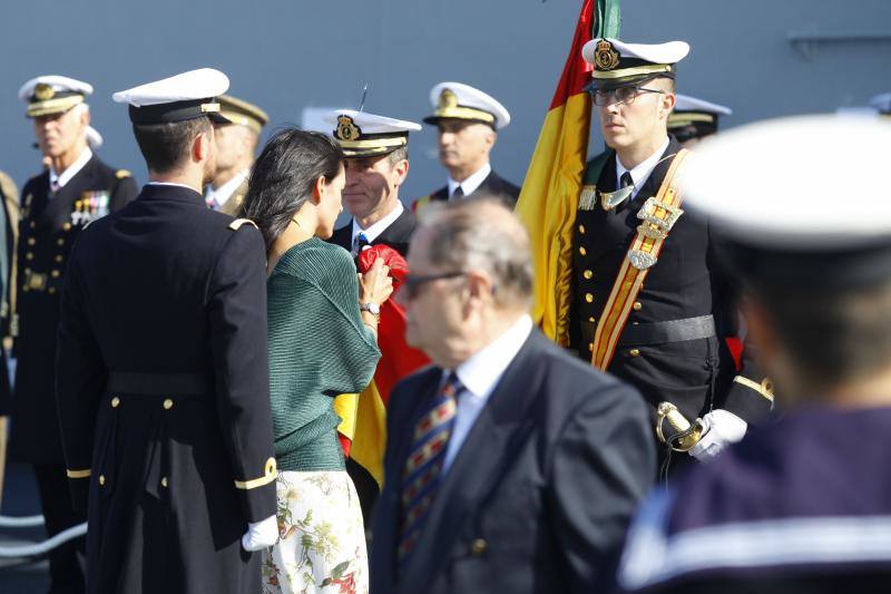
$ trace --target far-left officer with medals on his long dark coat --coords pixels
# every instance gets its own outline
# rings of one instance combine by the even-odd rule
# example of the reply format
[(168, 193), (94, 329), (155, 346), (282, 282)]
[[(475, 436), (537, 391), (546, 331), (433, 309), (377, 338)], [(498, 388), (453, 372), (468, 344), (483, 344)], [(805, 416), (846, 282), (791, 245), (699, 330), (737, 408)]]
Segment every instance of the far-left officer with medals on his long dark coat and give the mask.
[[(68, 497), (59, 421), (53, 413), (62, 276), (81, 230), (136, 195), (129, 172), (109, 167), (87, 146), (86, 98), (91, 92), (90, 85), (60, 76), (37, 77), (19, 90), (49, 167), (21, 191), (11, 319), (17, 367), (10, 457), (35, 465), (50, 536), (86, 520)], [(79, 557), (84, 546), (79, 538), (50, 553), (51, 592), (84, 591)]]

